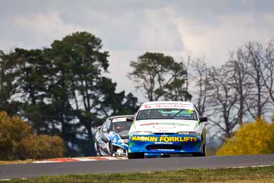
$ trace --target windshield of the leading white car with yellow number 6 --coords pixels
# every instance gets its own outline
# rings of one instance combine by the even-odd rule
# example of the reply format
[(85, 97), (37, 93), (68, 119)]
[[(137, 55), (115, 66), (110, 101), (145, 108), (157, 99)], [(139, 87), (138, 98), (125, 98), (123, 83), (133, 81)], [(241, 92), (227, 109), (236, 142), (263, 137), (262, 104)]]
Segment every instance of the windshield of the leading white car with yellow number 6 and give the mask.
[(140, 110), (136, 120), (146, 119), (186, 119), (197, 120), (195, 110), (181, 108), (147, 109)]

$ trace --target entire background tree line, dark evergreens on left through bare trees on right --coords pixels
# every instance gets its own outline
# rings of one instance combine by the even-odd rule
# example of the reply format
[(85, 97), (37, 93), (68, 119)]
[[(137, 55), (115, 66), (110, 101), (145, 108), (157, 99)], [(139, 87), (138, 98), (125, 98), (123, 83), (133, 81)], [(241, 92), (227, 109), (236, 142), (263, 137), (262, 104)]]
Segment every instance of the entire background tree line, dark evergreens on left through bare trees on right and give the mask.
[[(110, 115), (134, 114), (138, 99), (116, 92), (101, 39), (76, 32), (49, 48), (0, 51), (0, 111), (18, 115), (38, 134), (61, 136), (66, 156), (95, 155), (92, 127)], [(209, 118), (209, 134), (225, 141), (237, 127), (271, 116), (274, 105), (274, 41), (248, 42), (222, 66), (190, 54), (175, 60), (144, 53), (127, 76), (149, 101), (196, 104)]]

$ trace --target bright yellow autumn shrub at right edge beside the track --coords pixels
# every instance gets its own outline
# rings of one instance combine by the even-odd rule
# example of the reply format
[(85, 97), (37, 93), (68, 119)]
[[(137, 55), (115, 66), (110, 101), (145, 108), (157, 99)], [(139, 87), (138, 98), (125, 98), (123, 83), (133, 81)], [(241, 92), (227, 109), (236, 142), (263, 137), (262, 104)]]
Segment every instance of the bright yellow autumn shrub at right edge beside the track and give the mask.
[(217, 151), (217, 155), (274, 153), (274, 122), (257, 119), (246, 123)]

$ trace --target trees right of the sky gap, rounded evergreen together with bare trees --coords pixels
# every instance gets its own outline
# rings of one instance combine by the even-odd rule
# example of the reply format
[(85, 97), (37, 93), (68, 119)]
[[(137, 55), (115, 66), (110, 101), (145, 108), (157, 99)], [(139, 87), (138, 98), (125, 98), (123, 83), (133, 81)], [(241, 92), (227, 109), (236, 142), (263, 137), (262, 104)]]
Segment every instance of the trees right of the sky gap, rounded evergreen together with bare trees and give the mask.
[(128, 76), (145, 98), (190, 101), (193, 96), (209, 118), (208, 132), (223, 141), (243, 123), (273, 114), (274, 40), (248, 42), (221, 66), (208, 66), (204, 58), (190, 55), (175, 62), (162, 53), (145, 53), (131, 66)]

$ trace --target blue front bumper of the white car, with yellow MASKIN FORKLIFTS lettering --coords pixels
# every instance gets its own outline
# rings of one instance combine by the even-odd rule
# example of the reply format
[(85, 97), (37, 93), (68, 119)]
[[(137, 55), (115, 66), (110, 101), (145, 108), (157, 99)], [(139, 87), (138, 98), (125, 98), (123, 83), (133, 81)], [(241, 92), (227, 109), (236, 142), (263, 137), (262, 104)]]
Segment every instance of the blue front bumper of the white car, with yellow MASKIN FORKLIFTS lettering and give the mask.
[(129, 136), (129, 153), (190, 154), (202, 151), (201, 136), (152, 134)]

